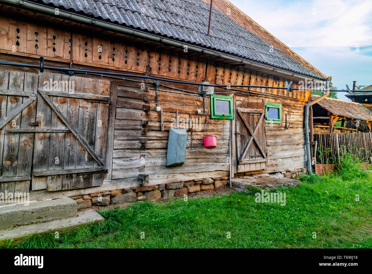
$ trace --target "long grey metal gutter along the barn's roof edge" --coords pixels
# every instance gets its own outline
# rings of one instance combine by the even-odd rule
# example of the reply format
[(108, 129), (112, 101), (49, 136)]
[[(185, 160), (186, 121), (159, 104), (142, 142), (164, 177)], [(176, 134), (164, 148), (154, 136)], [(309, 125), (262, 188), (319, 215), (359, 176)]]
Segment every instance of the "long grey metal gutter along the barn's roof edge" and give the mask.
[(25, 1), (25, 0), (0, 0), (0, 3), (12, 4), (14, 6), (21, 6), (22, 8), (25, 8), (25, 9), (29, 9), (29, 10), (33, 10), (33, 11), (41, 12), (41, 13), (46, 13), (46, 14), (51, 15), (51, 16), (65, 18), (65, 19), (68, 19), (68, 20), (84, 23), (84, 24), (87, 24), (87, 25), (97, 26), (99, 28), (103, 28), (103, 29), (107, 29), (107, 30), (115, 31), (115, 32), (120, 32), (120, 33), (123, 33), (123, 34), (126, 34), (126, 35), (132, 35), (132, 36), (142, 38), (142, 39), (145, 39), (145, 40), (158, 42), (160, 44), (167, 44), (167, 45), (177, 47), (177, 48), (182, 48), (182, 49), (187, 47), (187, 50), (190, 50), (190, 51), (206, 54), (206, 55), (209, 55), (209, 56), (212, 56), (212, 57), (222, 58), (222, 59), (225, 59), (225, 60), (228, 60), (228, 61), (231, 61), (231, 62), (235, 62), (235, 63), (240, 63), (240, 64), (245, 64), (245, 65), (248, 65), (248, 66), (257, 67), (259, 69), (264, 69), (264, 70), (267, 70), (269, 72), (277, 72), (277, 73), (280, 73), (282, 75), (292, 76), (292, 77), (295, 77), (295, 78), (298, 78), (298, 79), (301, 79), (301, 80), (308, 80), (308, 81), (318, 82), (318, 83), (321, 83), (321, 84), (324, 84), (324, 82), (326, 80), (325, 78), (322, 78), (320, 76), (319, 76), (319, 78), (312, 78), (311, 76), (304, 76), (304, 75), (301, 75), (301, 74), (298, 74), (298, 73), (288, 72), (288, 71), (283, 70), (283, 69), (276, 69), (276, 68), (266, 66), (266, 65), (263, 65), (263, 64), (251, 62), (251, 61), (248, 61), (246, 59), (234, 57), (234, 56), (231, 56), (229, 54), (219, 53), (217, 51), (212, 51), (212, 50), (208, 50), (208, 49), (205, 49), (205, 48), (190, 45), (190, 44), (187, 44), (187, 43), (184, 43), (184, 42), (171, 40), (169, 38), (160, 37), (160, 36), (157, 36), (157, 35), (154, 35), (154, 34), (149, 34), (149, 33), (143, 32), (143, 31), (138, 31), (138, 30), (135, 30), (135, 29), (127, 28), (125, 26), (115, 25), (113, 23), (108, 23), (108, 22), (101, 21), (101, 20), (98, 20), (98, 19), (92, 19), (92, 18), (83, 16), (83, 15), (77, 15), (75, 13), (65, 12), (63, 10), (58, 10), (58, 15), (55, 15), (55, 12), (56, 12), (55, 8), (49, 7), (49, 6), (44, 6), (42, 4), (36, 4), (36, 3), (32, 3), (32, 2), (29, 2), (29, 1)]

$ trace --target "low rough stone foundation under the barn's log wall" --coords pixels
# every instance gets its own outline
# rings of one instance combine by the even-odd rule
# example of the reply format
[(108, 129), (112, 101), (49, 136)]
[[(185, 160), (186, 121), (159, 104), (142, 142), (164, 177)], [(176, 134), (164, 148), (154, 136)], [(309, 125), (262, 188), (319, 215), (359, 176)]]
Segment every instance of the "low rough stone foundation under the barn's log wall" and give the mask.
[(139, 186), (137, 188), (116, 189), (112, 191), (92, 193), (70, 197), (77, 203), (77, 210), (90, 208), (94, 205), (107, 206), (125, 204), (137, 201), (158, 201), (160, 198), (168, 199), (183, 197), (187, 193), (208, 191), (220, 188), (227, 184), (228, 177), (204, 178), (190, 181), (179, 181), (154, 186)]

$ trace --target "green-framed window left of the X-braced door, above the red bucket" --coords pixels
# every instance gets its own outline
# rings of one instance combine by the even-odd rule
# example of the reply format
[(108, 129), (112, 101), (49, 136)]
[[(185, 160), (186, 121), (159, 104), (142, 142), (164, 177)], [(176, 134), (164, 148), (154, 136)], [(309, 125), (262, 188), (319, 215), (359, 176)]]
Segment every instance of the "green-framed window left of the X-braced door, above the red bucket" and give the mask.
[(234, 119), (234, 97), (211, 95), (211, 118), (212, 119)]

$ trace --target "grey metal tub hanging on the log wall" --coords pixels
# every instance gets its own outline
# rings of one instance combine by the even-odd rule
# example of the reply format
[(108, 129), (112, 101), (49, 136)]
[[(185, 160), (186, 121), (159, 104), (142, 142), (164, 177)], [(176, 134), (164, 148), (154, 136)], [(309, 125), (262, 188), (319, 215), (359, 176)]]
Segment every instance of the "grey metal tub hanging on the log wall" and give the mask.
[(167, 167), (182, 166), (185, 163), (186, 156), (186, 129), (169, 130)]

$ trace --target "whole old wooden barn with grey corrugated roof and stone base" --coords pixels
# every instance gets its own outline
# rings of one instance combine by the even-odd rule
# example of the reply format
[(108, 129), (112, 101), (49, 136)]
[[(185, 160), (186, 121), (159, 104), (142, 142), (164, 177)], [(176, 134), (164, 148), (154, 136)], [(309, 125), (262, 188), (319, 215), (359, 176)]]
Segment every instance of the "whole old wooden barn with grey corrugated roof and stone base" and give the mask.
[(305, 168), (311, 92), (286, 82), (326, 76), (210, 4), (0, 0), (0, 192), (89, 207)]

